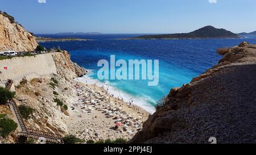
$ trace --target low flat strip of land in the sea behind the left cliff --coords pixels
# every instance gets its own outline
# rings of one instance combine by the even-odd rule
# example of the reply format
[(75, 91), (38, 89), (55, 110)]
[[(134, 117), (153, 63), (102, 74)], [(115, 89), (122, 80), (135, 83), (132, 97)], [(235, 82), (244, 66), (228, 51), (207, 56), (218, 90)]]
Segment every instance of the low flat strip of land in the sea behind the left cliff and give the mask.
[(53, 38), (53, 37), (41, 37), (41, 36), (37, 36), (35, 37), (35, 39), (38, 43), (56, 42), (56, 41), (90, 41), (92, 40), (92, 39), (81, 39), (76, 37)]

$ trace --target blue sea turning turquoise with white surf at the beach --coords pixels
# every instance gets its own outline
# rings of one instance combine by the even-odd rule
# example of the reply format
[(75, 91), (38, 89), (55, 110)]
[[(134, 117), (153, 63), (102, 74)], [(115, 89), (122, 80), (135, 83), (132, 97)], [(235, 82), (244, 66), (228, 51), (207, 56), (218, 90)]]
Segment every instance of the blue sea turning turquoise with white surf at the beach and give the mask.
[[(140, 34), (141, 35), (141, 34)], [(44, 37), (80, 37), (92, 41), (65, 41), (40, 43), (46, 48), (60, 47), (69, 51), (72, 61), (89, 70), (84, 77), (97, 81), (98, 60), (115, 58), (129, 60), (159, 60), (159, 85), (148, 86), (144, 80), (98, 81), (109, 87), (112, 93), (154, 112), (156, 102), (166, 96), (172, 87), (189, 83), (213, 65), (221, 56), (216, 53), (220, 47), (231, 47), (242, 41), (256, 43), (256, 39), (198, 39), (198, 40), (115, 40), (135, 37), (139, 34), (105, 35), (37, 35)], [(81, 79), (82, 80), (82, 79)]]

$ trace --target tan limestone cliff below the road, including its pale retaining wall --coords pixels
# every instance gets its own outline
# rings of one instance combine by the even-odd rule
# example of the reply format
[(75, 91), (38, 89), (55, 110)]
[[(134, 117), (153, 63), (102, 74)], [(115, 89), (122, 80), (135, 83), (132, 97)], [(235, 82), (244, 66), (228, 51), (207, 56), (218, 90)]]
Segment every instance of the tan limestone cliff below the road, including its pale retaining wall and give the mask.
[[(70, 107), (77, 102), (72, 82), (74, 78), (83, 76), (86, 70), (72, 62), (66, 51), (1, 60), (0, 66), (7, 62), (10, 70), (2, 70), (2, 79), (14, 79), (15, 88), (12, 90), (16, 91), (16, 104), (34, 109), (30, 118), (24, 120), (27, 128), (68, 135)], [(24, 68), (23, 63), (29, 67)], [(23, 77), (27, 78), (27, 82), (22, 81)], [(57, 105), (55, 99), (60, 100), (63, 106)], [(0, 112), (4, 108), (6, 107), (0, 106)], [(10, 109), (5, 114), (12, 118), (9, 115)], [(18, 131), (19, 129), (16, 132)], [(5, 141), (12, 140), (13, 137), (9, 136)]]

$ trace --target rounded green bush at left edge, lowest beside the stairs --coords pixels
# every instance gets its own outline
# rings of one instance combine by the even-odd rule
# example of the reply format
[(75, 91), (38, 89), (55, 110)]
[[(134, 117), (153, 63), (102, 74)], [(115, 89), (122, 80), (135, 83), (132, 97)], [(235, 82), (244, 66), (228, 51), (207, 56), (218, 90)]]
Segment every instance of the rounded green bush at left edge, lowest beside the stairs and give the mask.
[(9, 136), (17, 127), (18, 124), (11, 119), (0, 119), (0, 136)]

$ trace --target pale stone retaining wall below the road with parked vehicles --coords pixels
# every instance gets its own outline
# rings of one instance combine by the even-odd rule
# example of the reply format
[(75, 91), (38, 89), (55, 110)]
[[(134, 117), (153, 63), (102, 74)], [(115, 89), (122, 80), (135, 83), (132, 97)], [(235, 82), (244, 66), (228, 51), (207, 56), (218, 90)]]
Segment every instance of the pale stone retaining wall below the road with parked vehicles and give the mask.
[[(8, 70), (3, 69), (8, 66)], [(26, 77), (28, 80), (39, 77), (50, 77), (57, 73), (51, 53), (30, 57), (16, 57), (0, 60), (0, 79), (13, 79), (15, 83)], [(2, 83), (2, 82), (1, 82)]]

